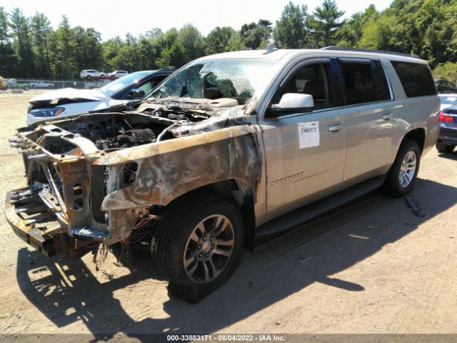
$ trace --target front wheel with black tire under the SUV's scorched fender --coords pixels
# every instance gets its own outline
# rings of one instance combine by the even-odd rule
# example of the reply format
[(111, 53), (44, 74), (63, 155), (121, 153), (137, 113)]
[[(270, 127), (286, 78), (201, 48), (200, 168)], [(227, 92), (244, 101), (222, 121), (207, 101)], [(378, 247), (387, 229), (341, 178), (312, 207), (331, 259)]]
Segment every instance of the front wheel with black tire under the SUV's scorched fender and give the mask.
[(218, 192), (196, 192), (169, 205), (151, 242), (169, 295), (199, 302), (231, 277), (243, 247), (242, 218), (233, 199)]

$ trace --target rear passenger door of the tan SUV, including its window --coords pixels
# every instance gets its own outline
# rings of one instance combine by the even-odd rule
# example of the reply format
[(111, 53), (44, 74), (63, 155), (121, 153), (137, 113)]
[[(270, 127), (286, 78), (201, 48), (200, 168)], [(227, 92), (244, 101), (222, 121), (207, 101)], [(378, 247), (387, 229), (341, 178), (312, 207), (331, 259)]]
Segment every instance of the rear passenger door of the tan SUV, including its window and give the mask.
[(337, 61), (343, 83), (341, 110), (348, 120), (344, 181), (355, 184), (390, 168), (396, 139), (393, 96), (381, 61)]

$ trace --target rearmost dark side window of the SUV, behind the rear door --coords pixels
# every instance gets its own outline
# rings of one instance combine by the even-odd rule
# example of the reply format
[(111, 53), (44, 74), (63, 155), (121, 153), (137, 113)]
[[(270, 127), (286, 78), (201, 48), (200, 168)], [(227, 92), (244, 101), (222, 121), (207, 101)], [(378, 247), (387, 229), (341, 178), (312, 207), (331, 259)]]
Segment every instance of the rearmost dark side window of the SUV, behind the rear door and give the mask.
[(408, 98), (436, 95), (435, 82), (428, 65), (402, 61), (391, 61), (391, 64)]

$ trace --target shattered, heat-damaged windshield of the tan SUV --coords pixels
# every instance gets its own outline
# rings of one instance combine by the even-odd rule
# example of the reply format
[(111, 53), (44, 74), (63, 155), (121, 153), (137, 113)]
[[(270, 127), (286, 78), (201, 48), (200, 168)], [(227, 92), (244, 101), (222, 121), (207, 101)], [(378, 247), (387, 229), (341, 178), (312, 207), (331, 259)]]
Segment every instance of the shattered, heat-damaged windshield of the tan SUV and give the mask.
[(243, 105), (267, 86), (273, 61), (196, 61), (166, 79), (150, 97), (184, 99), (236, 99)]

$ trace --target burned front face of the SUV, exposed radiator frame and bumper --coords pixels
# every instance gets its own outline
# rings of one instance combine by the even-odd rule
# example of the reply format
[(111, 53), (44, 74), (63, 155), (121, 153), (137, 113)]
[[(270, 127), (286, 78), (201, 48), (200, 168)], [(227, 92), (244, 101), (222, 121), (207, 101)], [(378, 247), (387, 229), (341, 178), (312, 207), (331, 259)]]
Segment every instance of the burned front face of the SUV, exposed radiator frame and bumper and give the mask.
[(21, 239), (48, 257), (68, 252), (76, 259), (129, 237), (139, 211), (101, 210), (106, 192), (122, 186), (123, 166), (94, 165), (103, 152), (54, 125), (18, 137), (13, 142), (24, 154), (29, 187), (8, 194), (5, 215)]

